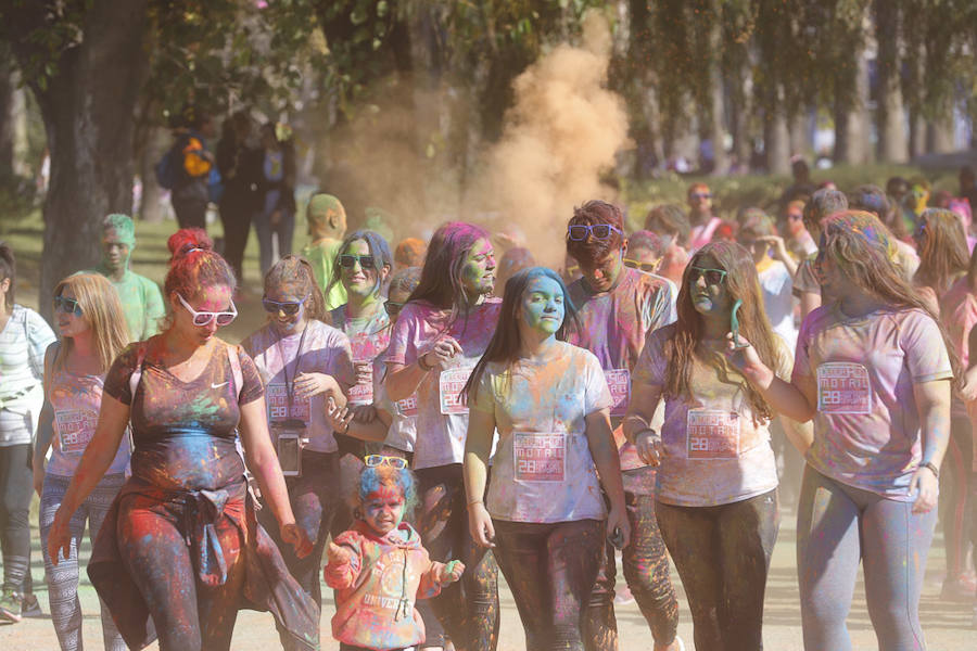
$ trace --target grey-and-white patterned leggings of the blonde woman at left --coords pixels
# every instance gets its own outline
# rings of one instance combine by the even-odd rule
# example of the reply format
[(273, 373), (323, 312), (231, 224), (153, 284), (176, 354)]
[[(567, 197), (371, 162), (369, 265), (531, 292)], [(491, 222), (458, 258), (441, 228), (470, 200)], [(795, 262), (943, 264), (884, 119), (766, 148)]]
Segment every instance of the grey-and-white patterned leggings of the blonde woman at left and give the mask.
[[(72, 477), (45, 475), (45, 487), (41, 490), (40, 532), (41, 553), (45, 557), (45, 580), (48, 584), (48, 604), (51, 608), (51, 623), (62, 651), (81, 649), (81, 603), (78, 600), (78, 546), (85, 523), (88, 522), (88, 539), (94, 545), (102, 528), (102, 521), (112, 507), (112, 500), (126, 482), (123, 474), (105, 475), (91, 494), (81, 502), (72, 515), (68, 528), (72, 534), (72, 547), (68, 558), (58, 559), (58, 565), (51, 563), (48, 556), (48, 534), (54, 523), (54, 513), (67, 493)], [(107, 651), (125, 651), (126, 643), (115, 628), (109, 609), (99, 600), (102, 611), (102, 642)]]

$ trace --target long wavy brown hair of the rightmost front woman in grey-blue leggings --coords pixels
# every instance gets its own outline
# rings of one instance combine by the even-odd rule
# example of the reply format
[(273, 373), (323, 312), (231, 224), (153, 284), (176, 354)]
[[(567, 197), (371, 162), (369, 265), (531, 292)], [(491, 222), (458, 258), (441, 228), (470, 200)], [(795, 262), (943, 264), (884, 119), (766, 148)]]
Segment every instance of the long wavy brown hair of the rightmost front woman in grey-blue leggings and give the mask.
[(889, 229), (875, 215), (863, 210), (836, 213), (826, 217), (821, 225), (824, 234), (821, 239), (822, 253), (819, 255), (830, 256), (845, 273), (846, 281), (890, 307), (921, 309), (936, 321), (950, 356), (953, 385), (956, 387), (961, 376), (956, 347), (947, 335), (947, 329), (939, 317), (927, 307), (896, 267), (892, 260), (896, 242)]

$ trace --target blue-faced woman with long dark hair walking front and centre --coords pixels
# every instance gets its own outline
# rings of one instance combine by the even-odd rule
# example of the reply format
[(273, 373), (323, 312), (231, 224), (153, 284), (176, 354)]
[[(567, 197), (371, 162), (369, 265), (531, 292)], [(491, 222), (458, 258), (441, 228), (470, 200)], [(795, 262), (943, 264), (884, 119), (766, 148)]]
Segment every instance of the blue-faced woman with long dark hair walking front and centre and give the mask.
[(583, 650), (581, 612), (597, 580), (605, 534), (619, 546), (631, 539), (610, 391), (597, 357), (563, 341), (574, 319), (555, 271), (518, 272), (506, 283), (499, 328), (466, 386), (471, 536), (495, 548), (530, 651)]

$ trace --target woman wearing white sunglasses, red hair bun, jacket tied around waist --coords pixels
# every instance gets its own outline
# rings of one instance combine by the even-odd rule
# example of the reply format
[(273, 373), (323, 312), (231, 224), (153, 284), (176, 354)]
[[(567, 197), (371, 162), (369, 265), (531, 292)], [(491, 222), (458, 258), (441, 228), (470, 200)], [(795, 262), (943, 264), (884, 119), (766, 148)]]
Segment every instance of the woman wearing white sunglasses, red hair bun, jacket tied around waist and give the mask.
[(240, 432), (281, 539), (309, 553), (271, 447), (262, 379), (240, 347), (215, 336), (237, 315), (233, 271), (202, 230), (180, 230), (168, 244), (169, 327), (109, 370), (94, 436), (48, 535), (50, 558), (68, 549), (68, 520), (131, 422), (132, 476), (88, 566), (129, 648), (158, 636), (163, 651), (228, 649), (241, 605), (270, 610), (295, 648), (317, 648), (318, 610), (255, 521), (234, 445)]

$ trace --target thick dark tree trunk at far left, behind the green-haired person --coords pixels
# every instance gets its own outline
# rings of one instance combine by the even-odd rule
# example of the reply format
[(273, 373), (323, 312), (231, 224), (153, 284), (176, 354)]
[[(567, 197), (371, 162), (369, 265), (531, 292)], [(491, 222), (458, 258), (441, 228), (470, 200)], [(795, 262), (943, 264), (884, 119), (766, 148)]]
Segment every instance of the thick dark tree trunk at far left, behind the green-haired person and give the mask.
[[(43, 20), (33, 9), (21, 15), (25, 22)], [(39, 299), (47, 317), (54, 285), (98, 261), (101, 220), (132, 209), (134, 114), (148, 72), (145, 27), (147, 0), (92, 0), (81, 17), (81, 42), (61, 53), (47, 86), (30, 81), (51, 152)], [(22, 66), (36, 54), (29, 42), (11, 44)]]

